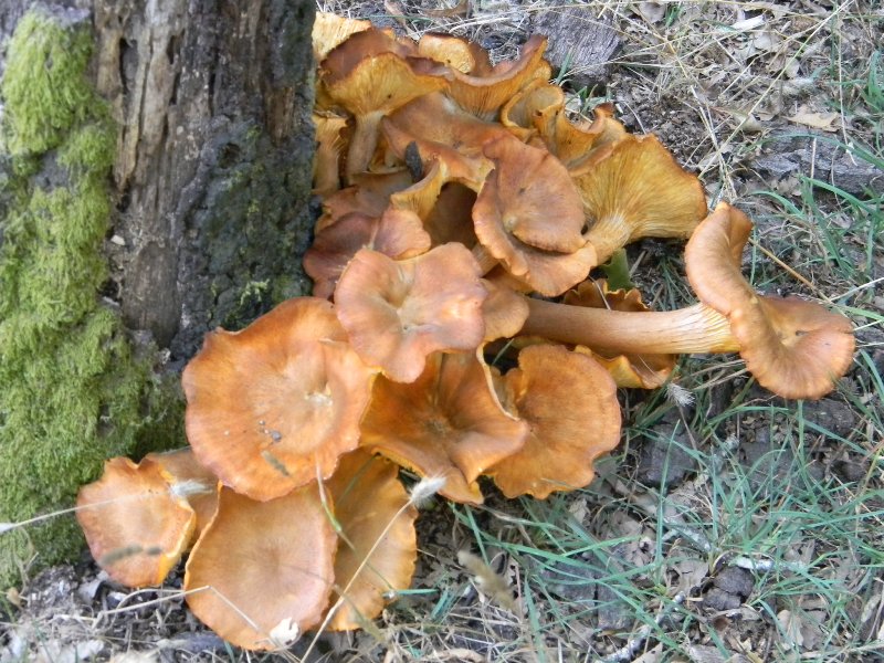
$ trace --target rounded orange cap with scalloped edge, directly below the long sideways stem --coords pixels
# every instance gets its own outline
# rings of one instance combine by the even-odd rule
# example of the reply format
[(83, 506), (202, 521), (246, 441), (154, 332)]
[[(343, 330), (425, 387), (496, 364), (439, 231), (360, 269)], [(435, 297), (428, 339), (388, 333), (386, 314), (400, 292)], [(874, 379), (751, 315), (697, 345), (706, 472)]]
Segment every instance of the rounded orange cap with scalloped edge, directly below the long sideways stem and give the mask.
[(528, 423), (525, 446), (488, 474), (507, 497), (589, 484), (592, 461), (620, 441), (620, 404), (611, 376), (591, 357), (561, 346), (522, 350), (505, 376), (507, 406)]

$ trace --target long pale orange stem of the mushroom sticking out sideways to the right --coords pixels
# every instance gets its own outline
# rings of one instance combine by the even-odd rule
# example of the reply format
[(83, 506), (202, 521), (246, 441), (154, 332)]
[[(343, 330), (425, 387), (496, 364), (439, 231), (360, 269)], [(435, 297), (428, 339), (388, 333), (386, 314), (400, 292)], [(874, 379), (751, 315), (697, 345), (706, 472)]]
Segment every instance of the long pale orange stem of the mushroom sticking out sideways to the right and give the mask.
[(523, 335), (613, 352), (678, 355), (739, 350), (727, 318), (703, 304), (666, 312), (623, 312), (527, 301), (529, 313)]

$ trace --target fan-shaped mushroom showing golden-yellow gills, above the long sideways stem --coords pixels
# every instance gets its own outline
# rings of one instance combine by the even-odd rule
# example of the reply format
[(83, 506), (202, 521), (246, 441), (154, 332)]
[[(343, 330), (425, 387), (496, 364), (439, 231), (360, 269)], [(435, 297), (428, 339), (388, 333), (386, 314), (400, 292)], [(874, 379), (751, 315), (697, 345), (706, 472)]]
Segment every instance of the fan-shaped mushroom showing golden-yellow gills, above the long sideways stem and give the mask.
[(599, 262), (640, 238), (688, 238), (706, 215), (696, 176), (682, 170), (654, 136), (627, 135), (610, 155), (575, 177)]

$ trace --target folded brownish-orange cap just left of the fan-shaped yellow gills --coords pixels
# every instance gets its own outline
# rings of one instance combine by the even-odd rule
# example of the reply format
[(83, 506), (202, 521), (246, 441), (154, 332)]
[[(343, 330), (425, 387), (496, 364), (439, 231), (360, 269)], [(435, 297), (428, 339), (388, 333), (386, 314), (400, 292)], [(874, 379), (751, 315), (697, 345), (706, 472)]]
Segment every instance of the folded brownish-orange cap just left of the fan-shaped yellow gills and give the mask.
[(554, 156), (507, 136), (488, 144), (495, 169), (473, 207), (485, 250), (538, 293), (555, 296), (586, 278), (596, 252), (580, 234), (580, 197)]

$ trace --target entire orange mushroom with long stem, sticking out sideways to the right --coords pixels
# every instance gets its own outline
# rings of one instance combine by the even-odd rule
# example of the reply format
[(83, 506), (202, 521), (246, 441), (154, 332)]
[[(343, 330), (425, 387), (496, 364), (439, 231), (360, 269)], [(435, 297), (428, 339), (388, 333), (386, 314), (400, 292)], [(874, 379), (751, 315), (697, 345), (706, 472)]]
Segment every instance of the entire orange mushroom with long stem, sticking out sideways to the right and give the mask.
[(685, 250), (702, 301), (671, 312), (629, 313), (528, 299), (523, 334), (611, 352), (739, 351), (762, 387), (786, 398), (820, 398), (853, 360), (851, 322), (812, 302), (756, 294), (738, 259), (751, 222), (719, 203)]

